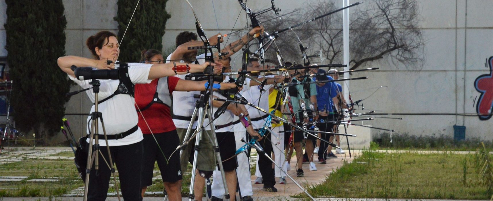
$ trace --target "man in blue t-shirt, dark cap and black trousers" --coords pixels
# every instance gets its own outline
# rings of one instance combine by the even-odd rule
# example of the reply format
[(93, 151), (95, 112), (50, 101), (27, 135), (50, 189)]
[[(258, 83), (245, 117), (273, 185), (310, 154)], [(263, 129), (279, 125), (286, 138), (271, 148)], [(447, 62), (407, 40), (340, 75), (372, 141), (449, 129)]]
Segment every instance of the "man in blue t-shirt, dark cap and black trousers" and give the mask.
[[(317, 81), (328, 81), (329, 76), (325, 75), (325, 70), (318, 69), (317, 73), (322, 75), (317, 75)], [(337, 100), (337, 85), (334, 82), (321, 82), (317, 83), (317, 104), (318, 104), (318, 121), (317, 127), (322, 132), (333, 132), (334, 124), (325, 123), (328, 121), (334, 121), (337, 119), (337, 110), (334, 108), (338, 107), (339, 100)], [(334, 138), (332, 134), (319, 134), (320, 138), (331, 141)], [(320, 147), (318, 149), (318, 161), (322, 164), (326, 163), (327, 160), (327, 149), (329, 148), (328, 143), (321, 141)]]

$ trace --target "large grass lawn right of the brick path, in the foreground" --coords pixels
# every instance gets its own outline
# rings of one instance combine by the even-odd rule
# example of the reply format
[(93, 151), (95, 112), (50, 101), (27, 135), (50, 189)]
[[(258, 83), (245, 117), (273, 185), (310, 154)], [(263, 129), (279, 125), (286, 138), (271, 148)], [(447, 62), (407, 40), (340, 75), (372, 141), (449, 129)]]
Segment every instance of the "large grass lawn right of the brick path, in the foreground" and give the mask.
[(367, 150), (308, 191), (314, 197), (489, 200), (474, 161), (473, 154)]

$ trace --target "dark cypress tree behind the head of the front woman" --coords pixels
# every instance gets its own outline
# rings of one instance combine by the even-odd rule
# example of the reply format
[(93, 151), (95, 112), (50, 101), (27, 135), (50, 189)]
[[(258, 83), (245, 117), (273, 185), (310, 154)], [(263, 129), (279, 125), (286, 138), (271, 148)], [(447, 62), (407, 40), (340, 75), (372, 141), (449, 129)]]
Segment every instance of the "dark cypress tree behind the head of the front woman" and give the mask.
[[(141, 0), (130, 27), (123, 39), (118, 60), (122, 62), (137, 62), (141, 59), (144, 49), (163, 49), (163, 35), (166, 21), (171, 15), (166, 12), (168, 0)], [(118, 39), (123, 33), (134, 12), (135, 0), (118, 0), (118, 14), (114, 18), (118, 22)]]

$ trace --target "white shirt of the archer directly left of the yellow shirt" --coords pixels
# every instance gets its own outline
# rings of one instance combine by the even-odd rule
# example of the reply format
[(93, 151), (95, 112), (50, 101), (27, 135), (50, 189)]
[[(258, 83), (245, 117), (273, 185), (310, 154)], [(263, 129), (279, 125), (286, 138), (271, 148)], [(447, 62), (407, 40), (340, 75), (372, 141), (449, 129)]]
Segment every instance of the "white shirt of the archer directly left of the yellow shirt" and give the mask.
[[(274, 77), (272, 75), (266, 76), (266, 77)], [(261, 77), (259, 77), (261, 78)], [(245, 97), (248, 102), (259, 106), (260, 108), (264, 109), (265, 111), (269, 111), (269, 89), (274, 86), (272, 84), (266, 84), (264, 86), (265, 91), (262, 92), (262, 96), (260, 97), (260, 85), (250, 87), (249, 90), (242, 91), (243, 97)], [(259, 97), (260, 97), (260, 102), (259, 102)], [(248, 110), (248, 116), (250, 116), (250, 121), (254, 129), (261, 129), (264, 124), (265, 124), (265, 119), (258, 120), (258, 121), (253, 121), (252, 119), (262, 117), (267, 115), (267, 113), (262, 112), (255, 107), (252, 107), (250, 105), (246, 105), (246, 110)]]

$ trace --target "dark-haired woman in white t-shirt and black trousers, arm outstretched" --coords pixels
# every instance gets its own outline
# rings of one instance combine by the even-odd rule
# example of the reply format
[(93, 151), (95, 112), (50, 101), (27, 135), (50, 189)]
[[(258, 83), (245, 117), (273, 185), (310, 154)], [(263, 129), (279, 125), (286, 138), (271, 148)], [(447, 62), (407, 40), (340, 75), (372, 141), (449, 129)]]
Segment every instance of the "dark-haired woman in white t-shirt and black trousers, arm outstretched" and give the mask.
[[(95, 67), (97, 69), (114, 69), (119, 65), (115, 65), (118, 58), (118, 40), (116, 35), (111, 32), (99, 32), (90, 36), (86, 41), (87, 47), (95, 57), (88, 59), (77, 56), (64, 56), (58, 58), (58, 66), (67, 74), (69, 78), (77, 83), (82, 88), (89, 88), (91, 80), (78, 80), (75, 78), (74, 72), (70, 67)], [(111, 61), (108, 64), (107, 61)], [(220, 65), (220, 63), (217, 63)], [(152, 79), (159, 77), (172, 76), (176, 74), (185, 74), (188, 72), (202, 72), (208, 65), (215, 66), (209, 62), (203, 65), (182, 64), (182, 63), (167, 63), (167, 64), (128, 64), (128, 76), (133, 84), (150, 83)], [(138, 115), (134, 107), (134, 98), (129, 94), (118, 94), (110, 97), (120, 84), (120, 80), (100, 80), (101, 86), (98, 94), (99, 104), (98, 111), (102, 113), (105, 123), (106, 134), (108, 136), (108, 146), (111, 152), (111, 158), (116, 167), (121, 183), (123, 198), (126, 201), (141, 201), (141, 165), (142, 165), (142, 132), (138, 123)], [(89, 99), (93, 102), (94, 92), (86, 91)], [(105, 101), (102, 101), (105, 100)], [(102, 102), (101, 102), (102, 101)], [(95, 106), (91, 108), (94, 112)], [(88, 121), (91, 117), (88, 117)], [(88, 126), (90, 127), (90, 125)], [(89, 130), (87, 131), (89, 134)], [(103, 137), (103, 128), (99, 122), (100, 135), (100, 166), (99, 170), (91, 168), (89, 177), (89, 192), (88, 200), (104, 201), (108, 191), (108, 183), (110, 179), (111, 169), (106, 166), (105, 160), (108, 160), (106, 151), (106, 142)], [(87, 140), (89, 143), (89, 139)], [(102, 157), (105, 160), (101, 160)]]

